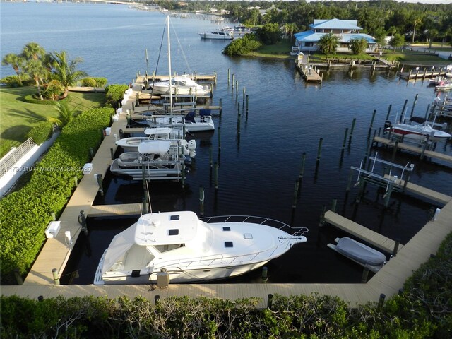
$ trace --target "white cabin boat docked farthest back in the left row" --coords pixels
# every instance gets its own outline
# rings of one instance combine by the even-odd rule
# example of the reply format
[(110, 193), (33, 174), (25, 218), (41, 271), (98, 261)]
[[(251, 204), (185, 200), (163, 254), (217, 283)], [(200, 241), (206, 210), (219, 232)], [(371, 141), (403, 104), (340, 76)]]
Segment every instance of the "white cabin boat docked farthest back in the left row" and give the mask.
[(156, 95), (208, 95), (210, 90), (196, 83), (191, 76), (184, 74), (182, 76), (171, 77), (169, 81), (157, 81), (149, 84), (149, 89)]

